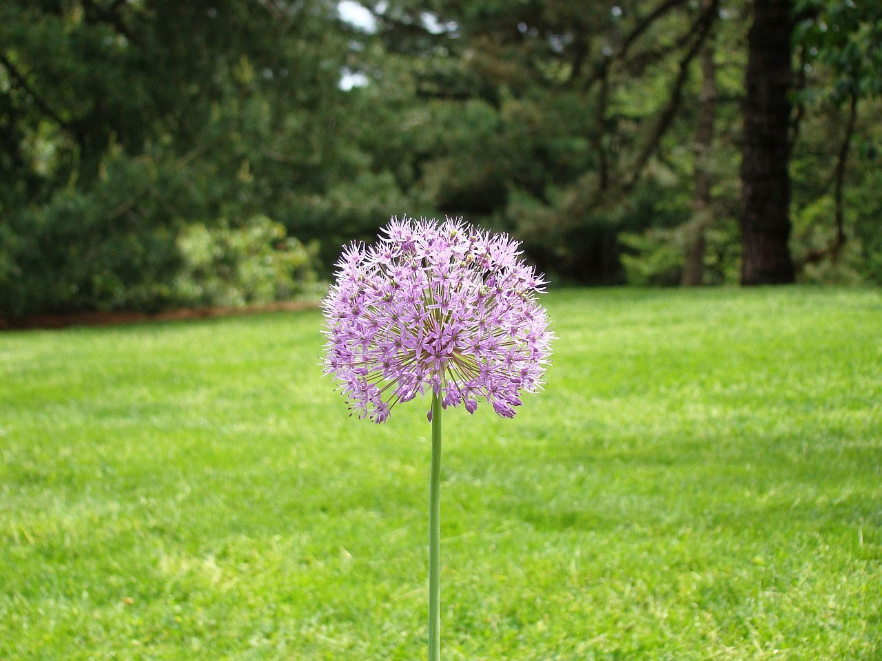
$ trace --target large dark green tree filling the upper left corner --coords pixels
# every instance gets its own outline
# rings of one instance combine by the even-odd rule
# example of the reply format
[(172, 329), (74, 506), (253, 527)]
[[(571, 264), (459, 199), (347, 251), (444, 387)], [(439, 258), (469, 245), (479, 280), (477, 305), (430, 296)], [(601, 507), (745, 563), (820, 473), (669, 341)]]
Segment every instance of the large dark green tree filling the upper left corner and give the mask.
[(325, 0), (0, 3), (0, 315), (179, 304), (183, 227), (348, 177), (346, 40)]

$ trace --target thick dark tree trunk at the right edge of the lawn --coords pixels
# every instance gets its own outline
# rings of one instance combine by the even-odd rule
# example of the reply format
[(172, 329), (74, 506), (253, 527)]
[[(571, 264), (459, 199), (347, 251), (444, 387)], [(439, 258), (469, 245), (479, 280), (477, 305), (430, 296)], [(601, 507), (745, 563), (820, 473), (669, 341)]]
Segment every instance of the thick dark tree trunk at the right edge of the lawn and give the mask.
[(754, 0), (741, 160), (741, 284), (793, 282), (790, 259), (790, 0)]

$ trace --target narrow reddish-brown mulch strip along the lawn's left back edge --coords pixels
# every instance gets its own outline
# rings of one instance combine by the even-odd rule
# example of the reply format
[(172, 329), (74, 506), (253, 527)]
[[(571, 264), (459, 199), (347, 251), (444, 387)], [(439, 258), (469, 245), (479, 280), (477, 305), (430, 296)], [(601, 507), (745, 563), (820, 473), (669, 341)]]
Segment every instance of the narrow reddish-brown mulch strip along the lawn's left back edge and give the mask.
[(68, 326), (115, 326), (121, 323), (176, 322), (215, 316), (255, 315), (261, 312), (293, 312), (318, 308), (313, 301), (282, 301), (253, 308), (188, 308), (147, 314), (146, 312), (72, 312), (62, 315), (0, 317), (0, 331)]

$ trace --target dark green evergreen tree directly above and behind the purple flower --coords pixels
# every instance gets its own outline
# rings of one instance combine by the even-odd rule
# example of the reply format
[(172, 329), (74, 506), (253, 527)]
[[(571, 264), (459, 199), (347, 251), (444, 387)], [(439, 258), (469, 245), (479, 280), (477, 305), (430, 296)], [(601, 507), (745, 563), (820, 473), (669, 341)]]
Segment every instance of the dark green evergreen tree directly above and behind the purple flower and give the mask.
[(447, 139), (416, 185), (447, 212), (515, 231), (564, 278), (621, 281), (617, 234), (678, 222), (689, 207), (659, 173), (682, 144), (671, 132), (691, 112), (684, 99), (719, 8), (445, 0), (431, 22), (449, 27), (431, 34), (419, 4), (377, 3), (385, 48), (412, 63), (424, 106), (451, 120), (435, 123)]

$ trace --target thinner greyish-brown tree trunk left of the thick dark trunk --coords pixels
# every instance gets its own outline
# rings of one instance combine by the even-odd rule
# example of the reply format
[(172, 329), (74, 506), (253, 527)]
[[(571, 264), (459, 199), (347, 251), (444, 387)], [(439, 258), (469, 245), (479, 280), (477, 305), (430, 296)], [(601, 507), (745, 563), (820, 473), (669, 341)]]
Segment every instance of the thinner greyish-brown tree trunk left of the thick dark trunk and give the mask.
[[(707, 5), (707, 0), (703, 3)], [(705, 234), (711, 220), (711, 149), (714, 144), (714, 116), (716, 109), (716, 66), (714, 39), (708, 37), (701, 50), (701, 94), (699, 123), (695, 130), (695, 196), (692, 200), (692, 220), (686, 227), (686, 256), (683, 266), (683, 285), (699, 286), (705, 280)]]

